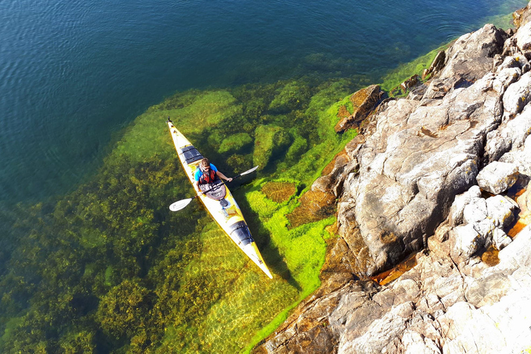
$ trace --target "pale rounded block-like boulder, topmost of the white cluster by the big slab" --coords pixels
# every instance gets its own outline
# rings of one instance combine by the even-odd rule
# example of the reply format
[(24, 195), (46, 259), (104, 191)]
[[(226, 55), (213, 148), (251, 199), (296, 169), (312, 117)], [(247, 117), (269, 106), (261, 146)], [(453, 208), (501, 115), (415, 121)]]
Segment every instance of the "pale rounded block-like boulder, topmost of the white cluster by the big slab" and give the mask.
[(483, 168), (476, 180), (481, 189), (492, 194), (500, 194), (512, 187), (518, 179), (518, 166), (494, 161)]

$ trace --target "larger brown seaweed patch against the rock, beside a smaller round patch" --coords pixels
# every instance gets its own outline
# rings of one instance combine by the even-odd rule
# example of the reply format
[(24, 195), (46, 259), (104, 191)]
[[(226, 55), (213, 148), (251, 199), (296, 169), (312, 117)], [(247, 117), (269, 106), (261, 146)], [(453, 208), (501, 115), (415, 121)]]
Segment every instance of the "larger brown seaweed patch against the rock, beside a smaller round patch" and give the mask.
[(289, 228), (313, 223), (335, 213), (335, 196), (330, 193), (308, 191), (301, 196), (300, 202), (301, 205), (286, 216), (290, 221)]

